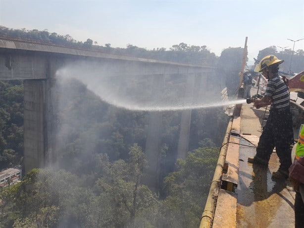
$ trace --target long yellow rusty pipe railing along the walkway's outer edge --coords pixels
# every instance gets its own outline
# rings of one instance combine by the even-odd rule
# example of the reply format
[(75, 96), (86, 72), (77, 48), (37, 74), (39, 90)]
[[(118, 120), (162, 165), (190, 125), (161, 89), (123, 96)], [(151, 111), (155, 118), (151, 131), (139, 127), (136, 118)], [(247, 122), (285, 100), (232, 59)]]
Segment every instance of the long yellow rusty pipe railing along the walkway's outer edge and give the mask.
[(226, 160), (228, 142), (230, 139), (230, 132), (232, 129), (233, 119), (234, 119), (234, 117), (232, 116), (228, 122), (226, 134), (225, 134), (225, 137), (224, 137), (224, 140), (222, 143), (222, 145), (224, 145), (224, 146), (221, 148), (219, 156), (218, 156), (213, 179), (212, 179), (211, 185), (210, 185), (209, 194), (208, 194), (205, 208), (204, 208), (202, 218), (201, 218), (200, 228), (212, 227), (217, 197), (218, 197), (220, 183), (221, 183), (221, 179), (222, 179), (222, 170), (223, 170), (224, 163)]

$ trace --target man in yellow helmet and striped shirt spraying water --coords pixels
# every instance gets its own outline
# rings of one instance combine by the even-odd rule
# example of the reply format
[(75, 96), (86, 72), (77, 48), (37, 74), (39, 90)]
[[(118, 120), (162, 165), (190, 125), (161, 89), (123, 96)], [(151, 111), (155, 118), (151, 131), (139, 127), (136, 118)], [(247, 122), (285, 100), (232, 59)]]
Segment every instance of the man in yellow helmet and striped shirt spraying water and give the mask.
[(280, 159), (278, 171), (272, 173), (274, 178), (288, 178), (291, 166), (291, 145), (294, 144), (293, 121), (290, 111), (290, 95), (287, 83), (278, 75), (279, 64), (284, 60), (271, 55), (261, 59), (255, 66), (255, 72), (262, 72), (268, 80), (262, 99), (256, 99), (253, 106), (270, 106), (268, 120), (256, 147), (254, 158), (249, 163), (268, 165), (274, 147)]

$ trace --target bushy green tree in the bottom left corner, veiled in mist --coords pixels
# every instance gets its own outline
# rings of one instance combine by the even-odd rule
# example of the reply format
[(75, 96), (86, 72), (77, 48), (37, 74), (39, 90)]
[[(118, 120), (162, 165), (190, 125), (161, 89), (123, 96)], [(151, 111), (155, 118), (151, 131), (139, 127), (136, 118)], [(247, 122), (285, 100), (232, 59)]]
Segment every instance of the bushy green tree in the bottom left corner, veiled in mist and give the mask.
[(1, 189), (0, 224), (4, 227), (90, 227), (94, 194), (66, 171), (34, 169), (24, 180)]

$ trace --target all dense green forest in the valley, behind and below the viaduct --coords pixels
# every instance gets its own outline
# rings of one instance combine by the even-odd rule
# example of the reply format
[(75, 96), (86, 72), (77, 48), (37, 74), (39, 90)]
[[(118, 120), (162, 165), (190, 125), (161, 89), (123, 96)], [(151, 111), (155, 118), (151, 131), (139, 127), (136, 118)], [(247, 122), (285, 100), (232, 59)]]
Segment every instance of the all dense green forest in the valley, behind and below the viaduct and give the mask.
[[(210, 88), (228, 85), (231, 94), (243, 53), (229, 48), (218, 58), (206, 46), (184, 43), (168, 51), (133, 45), (114, 49), (48, 31), (0, 30), (57, 45), (218, 66)], [(23, 86), (22, 81), (1, 83), (3, 169), (20, 164), (23, 155)], [(143, 184), (149, 166), (144, 153), (149, 113), (105, 104), (75, 79), (60, 84), (60, 98), (57, 160), (52, 168), (33, 170), (19, 184), (2, 189), (0, 227), (198, 227), (227, 126), (222, 108), (192, 112), (190, 152), (178, 161), (181, 112), (163, 113), (160, 184), (152, 192)]]

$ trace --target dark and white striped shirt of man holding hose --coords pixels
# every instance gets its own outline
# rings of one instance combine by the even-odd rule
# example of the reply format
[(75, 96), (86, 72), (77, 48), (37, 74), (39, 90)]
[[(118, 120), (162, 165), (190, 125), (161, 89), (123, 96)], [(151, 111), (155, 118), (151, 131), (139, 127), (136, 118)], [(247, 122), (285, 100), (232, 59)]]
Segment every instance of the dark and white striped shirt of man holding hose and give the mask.
[(268, 80), (265, 96), (272, 98), (271, 108), (277, 110), (289, 108), (289, 89), (280, 76)]

